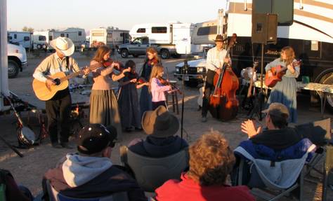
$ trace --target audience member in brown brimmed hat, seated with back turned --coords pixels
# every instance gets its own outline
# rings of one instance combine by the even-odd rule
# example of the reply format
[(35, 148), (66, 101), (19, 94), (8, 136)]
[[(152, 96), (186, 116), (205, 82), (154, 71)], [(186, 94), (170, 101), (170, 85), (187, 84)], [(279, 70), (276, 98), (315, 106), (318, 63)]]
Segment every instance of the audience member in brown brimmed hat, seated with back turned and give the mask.
[(142, 126), (148, 136), (145, 140), (133, 139), (129, 143), (129, 150), (134, 153), (162, 158), (188, 147), (184, 139), (175, 135), (179, 129), (178, 118), (166, 111), (164, 106), (157, 107), (155, 111), (146, 111), (143, 114)]

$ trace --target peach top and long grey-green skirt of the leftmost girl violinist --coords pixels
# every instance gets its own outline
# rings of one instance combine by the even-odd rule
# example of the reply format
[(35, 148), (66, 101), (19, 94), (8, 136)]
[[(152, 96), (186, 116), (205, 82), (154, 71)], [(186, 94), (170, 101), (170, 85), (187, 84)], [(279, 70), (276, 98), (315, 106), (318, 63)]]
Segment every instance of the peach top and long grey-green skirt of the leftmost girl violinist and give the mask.
[[(91, 61), (91, 65), (96, 64)], [(111, 88), (112, 67), (100, 67), (92, 71), (93, 88), (90, 95), (90, 123), (100, 123), (105, 126), (112, 125), (117, 129), (117, 136), (122, 135), (122, 125), (118, 111), (118, 102), (115, 92)]]

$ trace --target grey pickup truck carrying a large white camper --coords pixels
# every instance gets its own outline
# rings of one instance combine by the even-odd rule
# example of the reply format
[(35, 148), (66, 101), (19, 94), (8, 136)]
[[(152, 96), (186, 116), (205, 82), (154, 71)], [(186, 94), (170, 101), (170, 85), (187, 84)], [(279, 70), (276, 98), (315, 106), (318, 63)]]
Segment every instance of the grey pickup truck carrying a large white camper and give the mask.
[[(132, 42), (119, 47), (119, 53), (122, 57), (136, 57), (144, 55), (147, 46), (155, 46), (163, 59), (169, 58), (170, 55), (188, 54), (192, 49), (197, 50), (197, 47), (191, 45), (192, 29), (192, 24), (180, 22), (135, 25), (129, 32)], [(140, 41), (148, 42), (142, 43), (145, 45), (143, 48)], [(138, 53), (138, 49), (142, 50)]]

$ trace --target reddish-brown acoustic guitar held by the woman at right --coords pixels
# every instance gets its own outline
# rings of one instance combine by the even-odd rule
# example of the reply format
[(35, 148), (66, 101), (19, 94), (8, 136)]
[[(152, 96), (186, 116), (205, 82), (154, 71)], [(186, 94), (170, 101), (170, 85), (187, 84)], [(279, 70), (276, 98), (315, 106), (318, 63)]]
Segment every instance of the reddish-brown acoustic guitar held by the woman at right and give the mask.
[[(296, 67), (301, 65), (301, 60), (292, 62), (292, 67)], [(276, 66), (272, 67), (269, 71), (266, 72), (265, 75), (265, 85), (269, 88), (273, 88), (276, 83), (282, 81), (282, 76), (286, 74), (287, 67)], [(269, 72), (272, 72), (273, 76), (268, 76)]]

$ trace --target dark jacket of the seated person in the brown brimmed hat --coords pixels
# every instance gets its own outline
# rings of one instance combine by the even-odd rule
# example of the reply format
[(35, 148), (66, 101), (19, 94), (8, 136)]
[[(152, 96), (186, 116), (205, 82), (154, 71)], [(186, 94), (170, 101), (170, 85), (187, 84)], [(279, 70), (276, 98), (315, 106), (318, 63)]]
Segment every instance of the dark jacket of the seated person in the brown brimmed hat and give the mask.
[(145, 140), (129, 146), (129, 150), (138, 153), (139, 155), (162, 158), (178, 153), (186, 147), (188, 147), (188, 143), (178, 136), (166, 138), (148, 136)]

